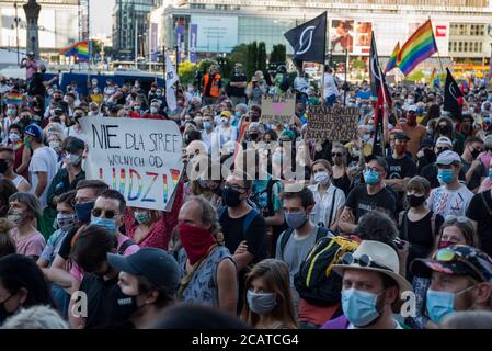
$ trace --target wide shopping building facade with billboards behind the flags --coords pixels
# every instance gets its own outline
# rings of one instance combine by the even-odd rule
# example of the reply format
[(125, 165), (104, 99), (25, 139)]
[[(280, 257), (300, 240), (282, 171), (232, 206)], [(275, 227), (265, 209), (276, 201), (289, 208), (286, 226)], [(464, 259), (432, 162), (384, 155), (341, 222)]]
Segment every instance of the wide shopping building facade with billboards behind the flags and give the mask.
[(267, 52), (285, 44), (291, 54), (284, 33), (323, 11), (329, 19), (327, 57), (345, 50), (351, 57), (368, 56), (371, 32), (379, 55), (389, 56), (428, 18), (440, 57), (478, 64), (491, 55), (489, 0), (176, 0), (160, 10), (158, 45), (178, 44), (186, 57), (191, 52), (230, 53), (253, 41), (265, 42)]

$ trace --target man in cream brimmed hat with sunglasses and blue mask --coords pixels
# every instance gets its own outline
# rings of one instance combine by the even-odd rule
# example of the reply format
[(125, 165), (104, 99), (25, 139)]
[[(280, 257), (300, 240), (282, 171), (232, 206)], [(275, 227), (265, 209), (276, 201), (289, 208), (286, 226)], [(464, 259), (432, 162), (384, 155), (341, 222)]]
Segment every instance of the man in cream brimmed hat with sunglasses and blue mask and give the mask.
[(363, 240), (332, 269), (342, 276), (343, 315), (321, 329), (408, 329), (393, 313), (400, 313), (401, 296), (412, 285), (399, 274), (400, 261), (392, 247)]

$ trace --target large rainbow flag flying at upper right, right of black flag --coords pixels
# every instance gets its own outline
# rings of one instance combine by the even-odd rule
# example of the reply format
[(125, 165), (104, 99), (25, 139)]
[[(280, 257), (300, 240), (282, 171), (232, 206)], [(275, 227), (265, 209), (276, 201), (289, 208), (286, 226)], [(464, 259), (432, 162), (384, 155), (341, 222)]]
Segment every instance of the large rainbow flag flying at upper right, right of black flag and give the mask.
[(420, 63), (437, 53), (431, 19), (422, 24), (403, 44), (398, 54), (398, 67), (408, 76)]

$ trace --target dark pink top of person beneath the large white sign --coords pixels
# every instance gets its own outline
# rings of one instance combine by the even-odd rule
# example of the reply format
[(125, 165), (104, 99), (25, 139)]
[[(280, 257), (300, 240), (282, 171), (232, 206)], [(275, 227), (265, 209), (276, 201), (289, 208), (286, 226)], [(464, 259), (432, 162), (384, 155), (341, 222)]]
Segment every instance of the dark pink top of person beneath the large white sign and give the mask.
[(142, 240), (140, 240), (140, 242), (137, 242), (135, 240), (135, 230), (137, 229), (138, 223), (134, 218), (133, 211), (126, 208), (123, 215), (126, 235), (135, 240), (140, 246), (140, 248), (158, 248), (168, 250), (171, 233), (178, 224), (178, 214), (182, 204), (183, 183), (181, 182), (178, 185), (178, 193), (174, 199), (171, 212), (162, 212), (159, 219), (150, 227), (149, 233)]

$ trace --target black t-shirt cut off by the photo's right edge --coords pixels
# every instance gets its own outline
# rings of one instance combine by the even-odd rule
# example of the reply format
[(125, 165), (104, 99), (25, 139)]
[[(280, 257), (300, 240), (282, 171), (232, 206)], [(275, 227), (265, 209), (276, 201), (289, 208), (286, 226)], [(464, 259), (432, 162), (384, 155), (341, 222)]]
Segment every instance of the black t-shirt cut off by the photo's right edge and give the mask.
[[(485, 203), (483, 202), (485, 201)], [(492, 257), (492, 196), (490, 191), (473, 195), (467, 210), (467, 217), (478, 223), (480, 248)]]

